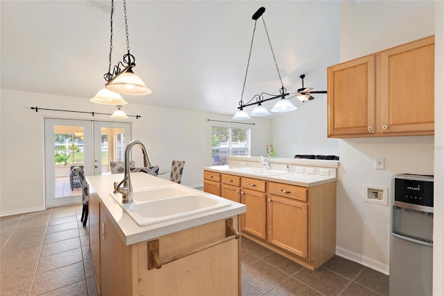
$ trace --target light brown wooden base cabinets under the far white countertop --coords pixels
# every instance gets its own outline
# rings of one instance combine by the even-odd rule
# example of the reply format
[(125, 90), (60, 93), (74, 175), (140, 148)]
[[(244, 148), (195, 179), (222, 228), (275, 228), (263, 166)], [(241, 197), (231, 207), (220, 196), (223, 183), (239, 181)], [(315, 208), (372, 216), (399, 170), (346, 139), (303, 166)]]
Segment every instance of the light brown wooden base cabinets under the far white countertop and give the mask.
[[(204, 178), (214, 174), (205, 171)], [(306, 188), (232, 174), (220, 177), (222, 197), (234, 200), (240, 188), (240, 202), (247, 206), (241, 215), (243, 236), (310, 270), (334, 256), (336, 181)]]

